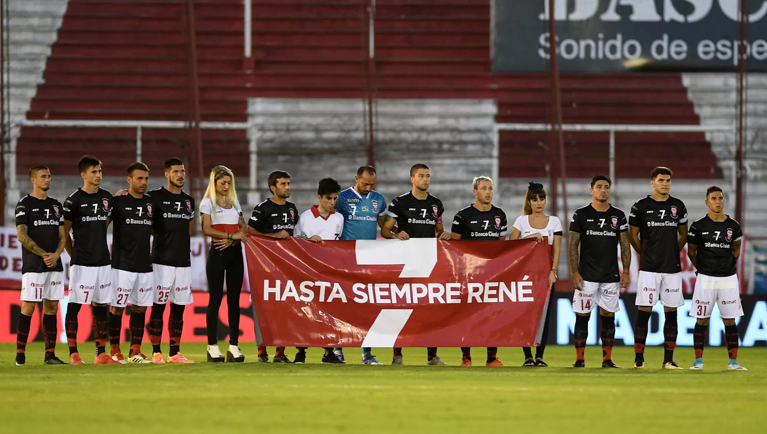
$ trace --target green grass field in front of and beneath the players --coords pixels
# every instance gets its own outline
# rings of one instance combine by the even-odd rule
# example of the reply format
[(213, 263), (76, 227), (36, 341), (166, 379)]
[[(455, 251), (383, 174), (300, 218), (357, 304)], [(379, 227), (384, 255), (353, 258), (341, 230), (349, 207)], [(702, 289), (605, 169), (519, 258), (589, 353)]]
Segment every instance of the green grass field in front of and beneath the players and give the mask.
[[(204, 344), (182, 348), (205, 361)], [(242, 351), (255, 361), (255, 344)], [(390, 351), (375, 352), (388, 362)], [(460, 363), (458, 348), (439, 352)], [(321, 350), (310, 349), (314, 363), (304, 365), (94, 366), (83, 357), (88, 365), (75, 367), (42, 364), (35, 343), (17, 367), (15, 345), (0, 344), (0, 432), (767, 432), (767, 348), (741, 350), (748, 372), (726, 370), (723, 348), (706, 348), (704, 371), (660, 370), (662, 348), (648, 348), (645, 370), (630, 369), (632, 348), (615, 348), (622, 370), (598, 367), (596, 347), (584, 370), (570, 367), (570, 347), (547, 348), (548, 368), (518, 367), (519, 348), (500, 349), (514, 365), (505, 368), (472, 352), (470, 368), (423, 366), (424, 348), (406, 348), (404, 367), (361, 366), (356, 348), (346, 366), (318, 364)], [(692, 348), (676, 361), (689, 367)]]

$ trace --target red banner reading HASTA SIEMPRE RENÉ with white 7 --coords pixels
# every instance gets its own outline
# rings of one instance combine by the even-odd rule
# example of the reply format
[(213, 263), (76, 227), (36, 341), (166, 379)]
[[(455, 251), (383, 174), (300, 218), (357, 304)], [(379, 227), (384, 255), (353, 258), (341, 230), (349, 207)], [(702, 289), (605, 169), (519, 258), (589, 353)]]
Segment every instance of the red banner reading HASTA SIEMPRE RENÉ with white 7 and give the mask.
[(519, 347), (538, 342), (551, 249), (535, 240), (249, 236), (261, 344)]

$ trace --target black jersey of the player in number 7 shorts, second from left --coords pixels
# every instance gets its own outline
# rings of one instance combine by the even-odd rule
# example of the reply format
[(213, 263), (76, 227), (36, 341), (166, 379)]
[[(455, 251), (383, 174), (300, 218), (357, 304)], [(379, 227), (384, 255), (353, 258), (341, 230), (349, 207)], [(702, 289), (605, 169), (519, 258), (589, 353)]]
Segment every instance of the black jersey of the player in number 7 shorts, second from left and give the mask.
[(64, 201), (64, 220), (72, 222), (72, 265), (108, 266), (107, 218), (112, 194), (99, 188), (90, 194), (77, 188)]

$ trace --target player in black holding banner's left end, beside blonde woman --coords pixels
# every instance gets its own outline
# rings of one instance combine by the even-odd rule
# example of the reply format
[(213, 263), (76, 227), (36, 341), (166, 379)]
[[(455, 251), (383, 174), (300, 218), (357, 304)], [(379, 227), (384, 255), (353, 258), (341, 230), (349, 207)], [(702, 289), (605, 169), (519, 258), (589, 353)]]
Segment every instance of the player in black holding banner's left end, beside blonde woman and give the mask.
[[(288, 240), (293, 237), (293, 230), (298, 224), (298, 208), (288, 202), (290, 197), (290, 174), (286, 171), (273, 171), (268, 178), (272, 197), (256, 205), (248, 220), (248, 232), (264, 237)], [(296, 359), (304, 363), (306, 348), (297, 348)], [(301, 354), (304, 353), (304, 354)], [(303, 358), (304, 360), (301, 360)], [(258, 362), (269, 363), (265, 345), (258, 345)], [(275, 363), (293, 363), (285, 355), (285, 347), (275, 349)]]

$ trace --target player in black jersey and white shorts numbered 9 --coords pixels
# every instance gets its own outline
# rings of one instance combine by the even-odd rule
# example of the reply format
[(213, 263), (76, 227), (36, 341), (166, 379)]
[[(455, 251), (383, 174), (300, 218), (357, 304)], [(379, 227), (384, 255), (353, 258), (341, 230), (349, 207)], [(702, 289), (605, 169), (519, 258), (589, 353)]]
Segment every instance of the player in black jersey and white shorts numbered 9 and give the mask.
[(634, 367), (644, 368), (644, 345), (653, 306), (663, 304), (663, 369), (682, 369), (673, 361), (676, 348), (676, 308), (684, 305), (680, 252), (687, 240), (687, 209), (669, 194), (670, 168), (654, 168), (653, 194), (631, 207), (629, 239), (639, 253), (637, 321), (634, 323)]

